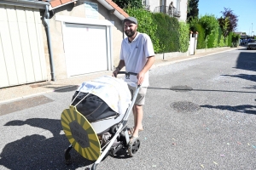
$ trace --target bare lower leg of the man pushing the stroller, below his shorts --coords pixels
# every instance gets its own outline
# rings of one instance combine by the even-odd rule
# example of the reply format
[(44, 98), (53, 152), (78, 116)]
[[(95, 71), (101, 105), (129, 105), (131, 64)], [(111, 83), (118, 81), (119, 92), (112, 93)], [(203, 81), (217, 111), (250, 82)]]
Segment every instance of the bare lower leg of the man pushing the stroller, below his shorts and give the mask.
[(134, 105), (132, 111), (134, 116), (134, 132), (132, 136), (138, 137), (139, 129), (143, 129), (143, 105)]

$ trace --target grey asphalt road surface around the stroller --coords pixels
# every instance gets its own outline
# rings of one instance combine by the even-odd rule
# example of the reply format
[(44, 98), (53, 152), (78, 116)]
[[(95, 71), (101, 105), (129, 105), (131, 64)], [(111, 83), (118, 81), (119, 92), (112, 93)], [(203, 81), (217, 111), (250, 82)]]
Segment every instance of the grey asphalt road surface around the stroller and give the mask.
[[(140, 150), (132, 158), (121, 150), (97, 169), (256, 169), (255, 71), (255, 50), (242, 49), (154, 68)], [(60, 116), (73, 94), (69, 88), (37, 98), (44, 102), (32, 99), (30, 106), (27, 100), (9, 103), (16, 110), (0, 116), (0, 169), (91, 165), (75, 150), (73, 164), (65, 165), (69, 142)]]

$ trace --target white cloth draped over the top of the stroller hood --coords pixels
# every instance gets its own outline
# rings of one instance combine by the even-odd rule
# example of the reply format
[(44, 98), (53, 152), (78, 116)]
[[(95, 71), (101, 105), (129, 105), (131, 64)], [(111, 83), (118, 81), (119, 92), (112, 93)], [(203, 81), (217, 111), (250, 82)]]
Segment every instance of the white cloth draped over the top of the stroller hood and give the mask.
[(83, 82), (77, 91), (98, 96), (115, 112), (125, 114), (131, 104), (131, 92), (124, 80), (103, 76), (90, 82)]

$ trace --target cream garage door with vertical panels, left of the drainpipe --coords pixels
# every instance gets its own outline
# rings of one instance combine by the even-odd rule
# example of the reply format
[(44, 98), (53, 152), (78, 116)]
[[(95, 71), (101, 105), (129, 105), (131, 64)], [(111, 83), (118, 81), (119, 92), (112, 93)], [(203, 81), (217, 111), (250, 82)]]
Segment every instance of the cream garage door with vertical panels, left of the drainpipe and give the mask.
[(0, 88), (46, 79), (39, 9), (0, 4)]

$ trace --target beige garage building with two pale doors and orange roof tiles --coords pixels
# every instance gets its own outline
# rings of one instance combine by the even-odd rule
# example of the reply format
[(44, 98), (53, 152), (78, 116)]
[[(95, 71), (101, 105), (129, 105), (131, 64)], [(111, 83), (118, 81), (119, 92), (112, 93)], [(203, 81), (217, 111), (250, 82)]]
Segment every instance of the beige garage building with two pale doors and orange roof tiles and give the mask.
[(113, 70), (126, 17), (111, 0), (0, 1), (0, 88)]

